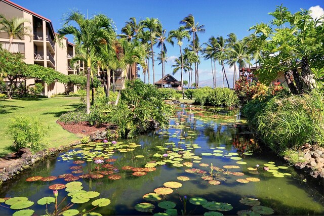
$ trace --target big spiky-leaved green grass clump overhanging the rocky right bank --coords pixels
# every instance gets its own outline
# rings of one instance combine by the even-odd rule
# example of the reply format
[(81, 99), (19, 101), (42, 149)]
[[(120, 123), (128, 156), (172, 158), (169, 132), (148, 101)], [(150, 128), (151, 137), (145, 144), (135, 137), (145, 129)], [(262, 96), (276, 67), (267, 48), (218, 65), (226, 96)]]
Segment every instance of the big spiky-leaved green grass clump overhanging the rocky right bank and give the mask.
[(301, 96), (253, 100), (242, 113), (261, 140), (280, 153), (306, 143), (324, 146), (324, 95), (318, 91)]

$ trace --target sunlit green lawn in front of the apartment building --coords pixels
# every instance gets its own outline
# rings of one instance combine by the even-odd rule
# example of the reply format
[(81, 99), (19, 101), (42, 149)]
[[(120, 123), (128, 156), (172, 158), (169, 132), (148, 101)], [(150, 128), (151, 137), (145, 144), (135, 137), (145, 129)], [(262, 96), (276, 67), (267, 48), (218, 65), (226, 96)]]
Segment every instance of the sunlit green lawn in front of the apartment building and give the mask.
[(78, 106), (84, 105), (76, 97), (0, 99), (0, 155), (9, 153), (7, 147), (12, 144), (12, 140), (7, 136), (6, 128), (9, 119), (16, 115), (39, 117), (45, 125), (49, 125), (49, 148), (77, 141), (79, 138), (62, 129), (56, 120), (61, 114)]

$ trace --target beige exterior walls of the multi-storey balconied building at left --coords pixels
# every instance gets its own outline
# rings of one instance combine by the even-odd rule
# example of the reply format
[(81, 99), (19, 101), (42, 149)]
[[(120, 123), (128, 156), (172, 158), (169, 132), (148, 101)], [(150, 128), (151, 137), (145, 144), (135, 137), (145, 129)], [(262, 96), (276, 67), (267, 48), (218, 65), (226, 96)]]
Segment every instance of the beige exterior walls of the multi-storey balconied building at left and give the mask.
[[(24, 25), (31, 28), (31, 36), (24, 36), (23, 39), (13, 39), (13, 43), (19, 42), (24, 44), (25, 63), (52, 67), (63, 74), (71, 74), (68, 73), (68, 41), (64, 38), (62, 41), (63, 46), (60, 45), (60, 42), (56, 42), (52, 47), (53, 43), (51, 44), (51, 42), (54, 41), (55, 32), (53, 32), (53, 26), (50, 20), (15, 4), (13, 6), (10, 2), (7, 3), (6, 0), (0, 0), (0, 14), (4, 14), (7, 19), (23, 17), (30, 21), (30, 23), (25, 22)], [(0, 43), (1, 42), (9, 43), (7, 32), (0, 32)], [(74, 56), (74, 46), (72, 44), (69, 44), (69, 53), (73, 54), (72, 57)], [(38, 58), (37, 54), (40, 54), (41, 58)], [(75, 74), (75, 69), (72, 71), (72, 74)], [(27, 85), (34, 83), (34, 79), (28, 79), (26, 81)], [(54, 94), (64, 93), (65, 91), (63, 83), (44, 83), (44, 87), (44, 94), (48, 97)]]

